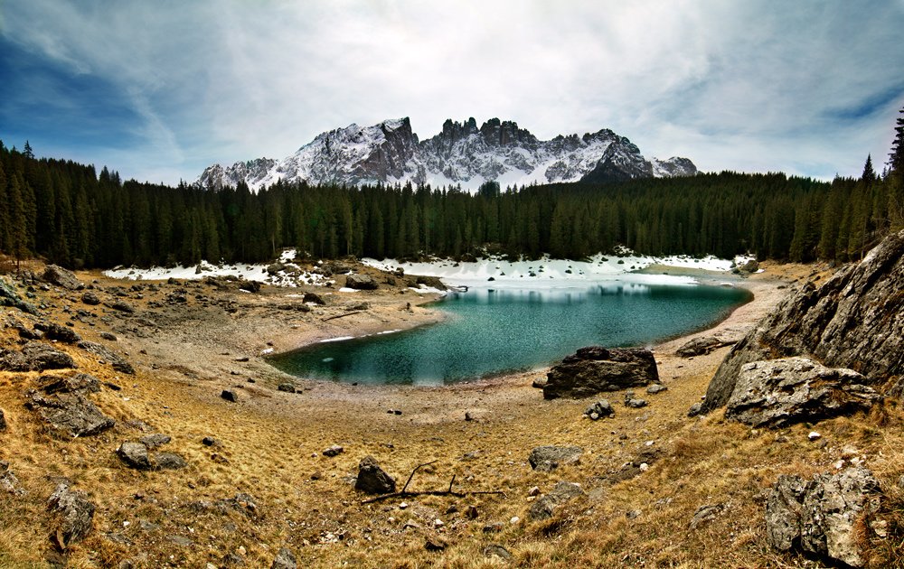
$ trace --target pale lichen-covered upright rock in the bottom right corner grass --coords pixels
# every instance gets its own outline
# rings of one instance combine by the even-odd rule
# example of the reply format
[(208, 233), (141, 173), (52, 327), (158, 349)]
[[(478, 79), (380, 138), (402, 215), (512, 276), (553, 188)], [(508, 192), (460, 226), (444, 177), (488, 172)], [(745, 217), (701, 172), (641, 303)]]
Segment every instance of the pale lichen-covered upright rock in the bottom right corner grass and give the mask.
[(780, 551), (799, 547), (862, 567), (866, 560), (858, 544), (858, 522), (880, 505), (879, 480), (862, 466), (831, 477), (816, 474), (813, 480), (783, 474), (767, 499), (767, 543)]

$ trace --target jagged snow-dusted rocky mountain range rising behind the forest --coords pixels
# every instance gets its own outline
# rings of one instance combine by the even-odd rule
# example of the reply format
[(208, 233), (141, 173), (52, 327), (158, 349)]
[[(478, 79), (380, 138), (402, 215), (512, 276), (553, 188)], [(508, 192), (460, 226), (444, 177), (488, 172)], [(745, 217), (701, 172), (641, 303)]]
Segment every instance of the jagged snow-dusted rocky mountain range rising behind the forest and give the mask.
[(469, 118), (464, 124), (447, 120), (441, 133), (419, 141), (405, 117), (331, 130), (282, 160), (215, 164), (195, 183), (221, 188), (244, 181), (256, 191), (278, 180), (344, 185), (411, 182), (433, 187), (460, 184), (473, 191), (486, 181), (506, 188), (695, 173), (697, 168), (687, 158), (646, 160), (636, 145), (608, 129), (543, 141), (512, 121), (492, 118), (477, 128)]

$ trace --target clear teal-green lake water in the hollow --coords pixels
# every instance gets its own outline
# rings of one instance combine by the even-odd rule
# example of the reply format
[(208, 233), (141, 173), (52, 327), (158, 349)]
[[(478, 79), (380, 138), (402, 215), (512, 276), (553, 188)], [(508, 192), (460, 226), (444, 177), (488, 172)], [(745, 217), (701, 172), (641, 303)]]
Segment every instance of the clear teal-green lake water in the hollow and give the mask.
[(582, 346), (643, 346), (702, 330), (751, 295), (698, 284), (452, 293), (444, 322), (315, 344), (270, 363), (300, 378), (442, 385), (549, 365)]

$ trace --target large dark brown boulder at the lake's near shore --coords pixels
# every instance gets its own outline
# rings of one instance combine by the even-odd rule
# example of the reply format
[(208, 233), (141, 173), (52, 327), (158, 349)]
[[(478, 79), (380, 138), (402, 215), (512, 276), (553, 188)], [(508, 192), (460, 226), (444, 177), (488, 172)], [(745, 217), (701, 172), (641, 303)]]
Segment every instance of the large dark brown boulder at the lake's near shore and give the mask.
[(581, 398), (659, 383), (653, 352), (641, 348), (581, 348), (551, 368), (543, 398)]

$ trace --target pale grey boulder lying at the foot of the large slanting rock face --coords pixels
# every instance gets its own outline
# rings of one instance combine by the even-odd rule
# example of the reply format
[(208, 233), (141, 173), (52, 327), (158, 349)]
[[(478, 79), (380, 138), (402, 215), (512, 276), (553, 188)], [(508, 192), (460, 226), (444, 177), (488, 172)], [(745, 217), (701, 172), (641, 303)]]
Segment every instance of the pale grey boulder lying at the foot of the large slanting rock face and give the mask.
[(868, 411), (881, 396), (851, 369), (830, 369), (807, 358), (745, 364), (725, 417), (755, 427), (780, 428), (800, 421)]

